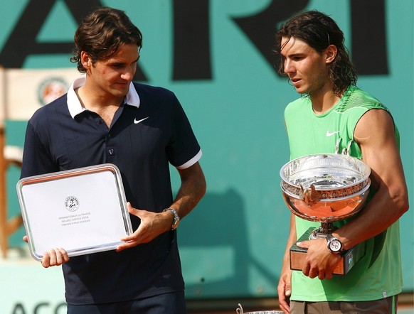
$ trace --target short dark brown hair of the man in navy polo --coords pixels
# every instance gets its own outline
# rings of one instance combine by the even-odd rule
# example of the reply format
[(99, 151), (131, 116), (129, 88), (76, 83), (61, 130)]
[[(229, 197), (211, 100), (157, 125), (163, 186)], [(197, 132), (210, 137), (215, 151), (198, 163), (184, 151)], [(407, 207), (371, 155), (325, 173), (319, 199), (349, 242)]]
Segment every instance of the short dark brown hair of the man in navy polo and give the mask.
[(124, 44), (142, 47), (142, 33), (124, 11), (107, 6), (96, 9), (86, 16), (75, 32), (75, 49), (70, 61), (78, 63), (78, 70), (85, 73), (80, 53), (85, 51), (92, 63), (105, 60), (117, 53)]

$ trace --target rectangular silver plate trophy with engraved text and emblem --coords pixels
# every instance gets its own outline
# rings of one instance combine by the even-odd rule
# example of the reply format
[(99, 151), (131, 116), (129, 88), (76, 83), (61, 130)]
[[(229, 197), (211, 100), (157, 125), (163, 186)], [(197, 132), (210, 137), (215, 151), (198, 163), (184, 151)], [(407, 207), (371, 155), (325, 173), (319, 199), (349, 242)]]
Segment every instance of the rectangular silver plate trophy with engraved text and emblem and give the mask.
[(109, 251), (133, 232), (122, 176), (111, 163), (23, 178), (16, 189), (37, 261), (53, 247), (68, 256)]

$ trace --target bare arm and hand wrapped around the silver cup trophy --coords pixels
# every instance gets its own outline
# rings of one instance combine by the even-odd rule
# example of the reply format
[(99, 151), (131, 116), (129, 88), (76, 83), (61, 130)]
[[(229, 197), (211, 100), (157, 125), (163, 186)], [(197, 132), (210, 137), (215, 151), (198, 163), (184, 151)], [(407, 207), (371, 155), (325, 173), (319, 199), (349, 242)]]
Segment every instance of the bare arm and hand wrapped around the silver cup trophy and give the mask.
[[(382, 109), (366, 112), (356, 125), (354, 140), (371, 167), (371, 186), (377, 192), (354, 220), (332, 233), (344, 249), (380, 234), (408, 210), (408, 190), (390, 114)], [(303, 273), (310, 278), (331, 278), (339, 256), (331, 254), (326, 241), (315, 239), (300, 246), (308, 249)]]

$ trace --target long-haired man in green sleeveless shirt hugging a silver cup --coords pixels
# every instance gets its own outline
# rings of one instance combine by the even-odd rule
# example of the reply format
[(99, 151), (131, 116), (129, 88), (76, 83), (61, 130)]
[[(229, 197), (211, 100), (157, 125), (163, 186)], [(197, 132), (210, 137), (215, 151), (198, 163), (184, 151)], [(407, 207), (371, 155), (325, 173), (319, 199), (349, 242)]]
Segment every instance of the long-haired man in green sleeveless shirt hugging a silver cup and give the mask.
[[(408, 210), (399, 134), (388, 109), (356, 87), (344, 34), (324, 13), (294, 16), (277, 32), (279, 72), (301, 97), (288, 104), (290, 158), (346, 149), (371, 168), (371, 199), (332, 232), (345, 251), (365, 242), (366, 254), (346, 275), (332, 274), (341, 254), (327, 239), (297, 243), (309, 222), (291, 215), (277, 292), (285, 313), (395, 313), (402, 290), (398, 220)], [(292, 244), (307, 249), (302, 271), (290, 269)]]

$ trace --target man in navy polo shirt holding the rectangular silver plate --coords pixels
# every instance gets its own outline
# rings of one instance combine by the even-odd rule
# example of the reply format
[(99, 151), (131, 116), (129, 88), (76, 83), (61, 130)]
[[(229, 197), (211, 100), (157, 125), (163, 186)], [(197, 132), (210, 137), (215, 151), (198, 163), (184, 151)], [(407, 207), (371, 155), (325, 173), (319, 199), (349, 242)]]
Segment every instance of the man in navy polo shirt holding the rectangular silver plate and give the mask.
[(28, 121), (21, 178), (114, 163), (136, 231), (116, 251), (51, 249), (42, 265), (62, 265), (68, 313), (186, 313), (175, 228), (206, 192), (201, 148), (172, 92), (132, 82), (142, 34), (123, 11), (92, 12), (75, 45), (85, 78)]

